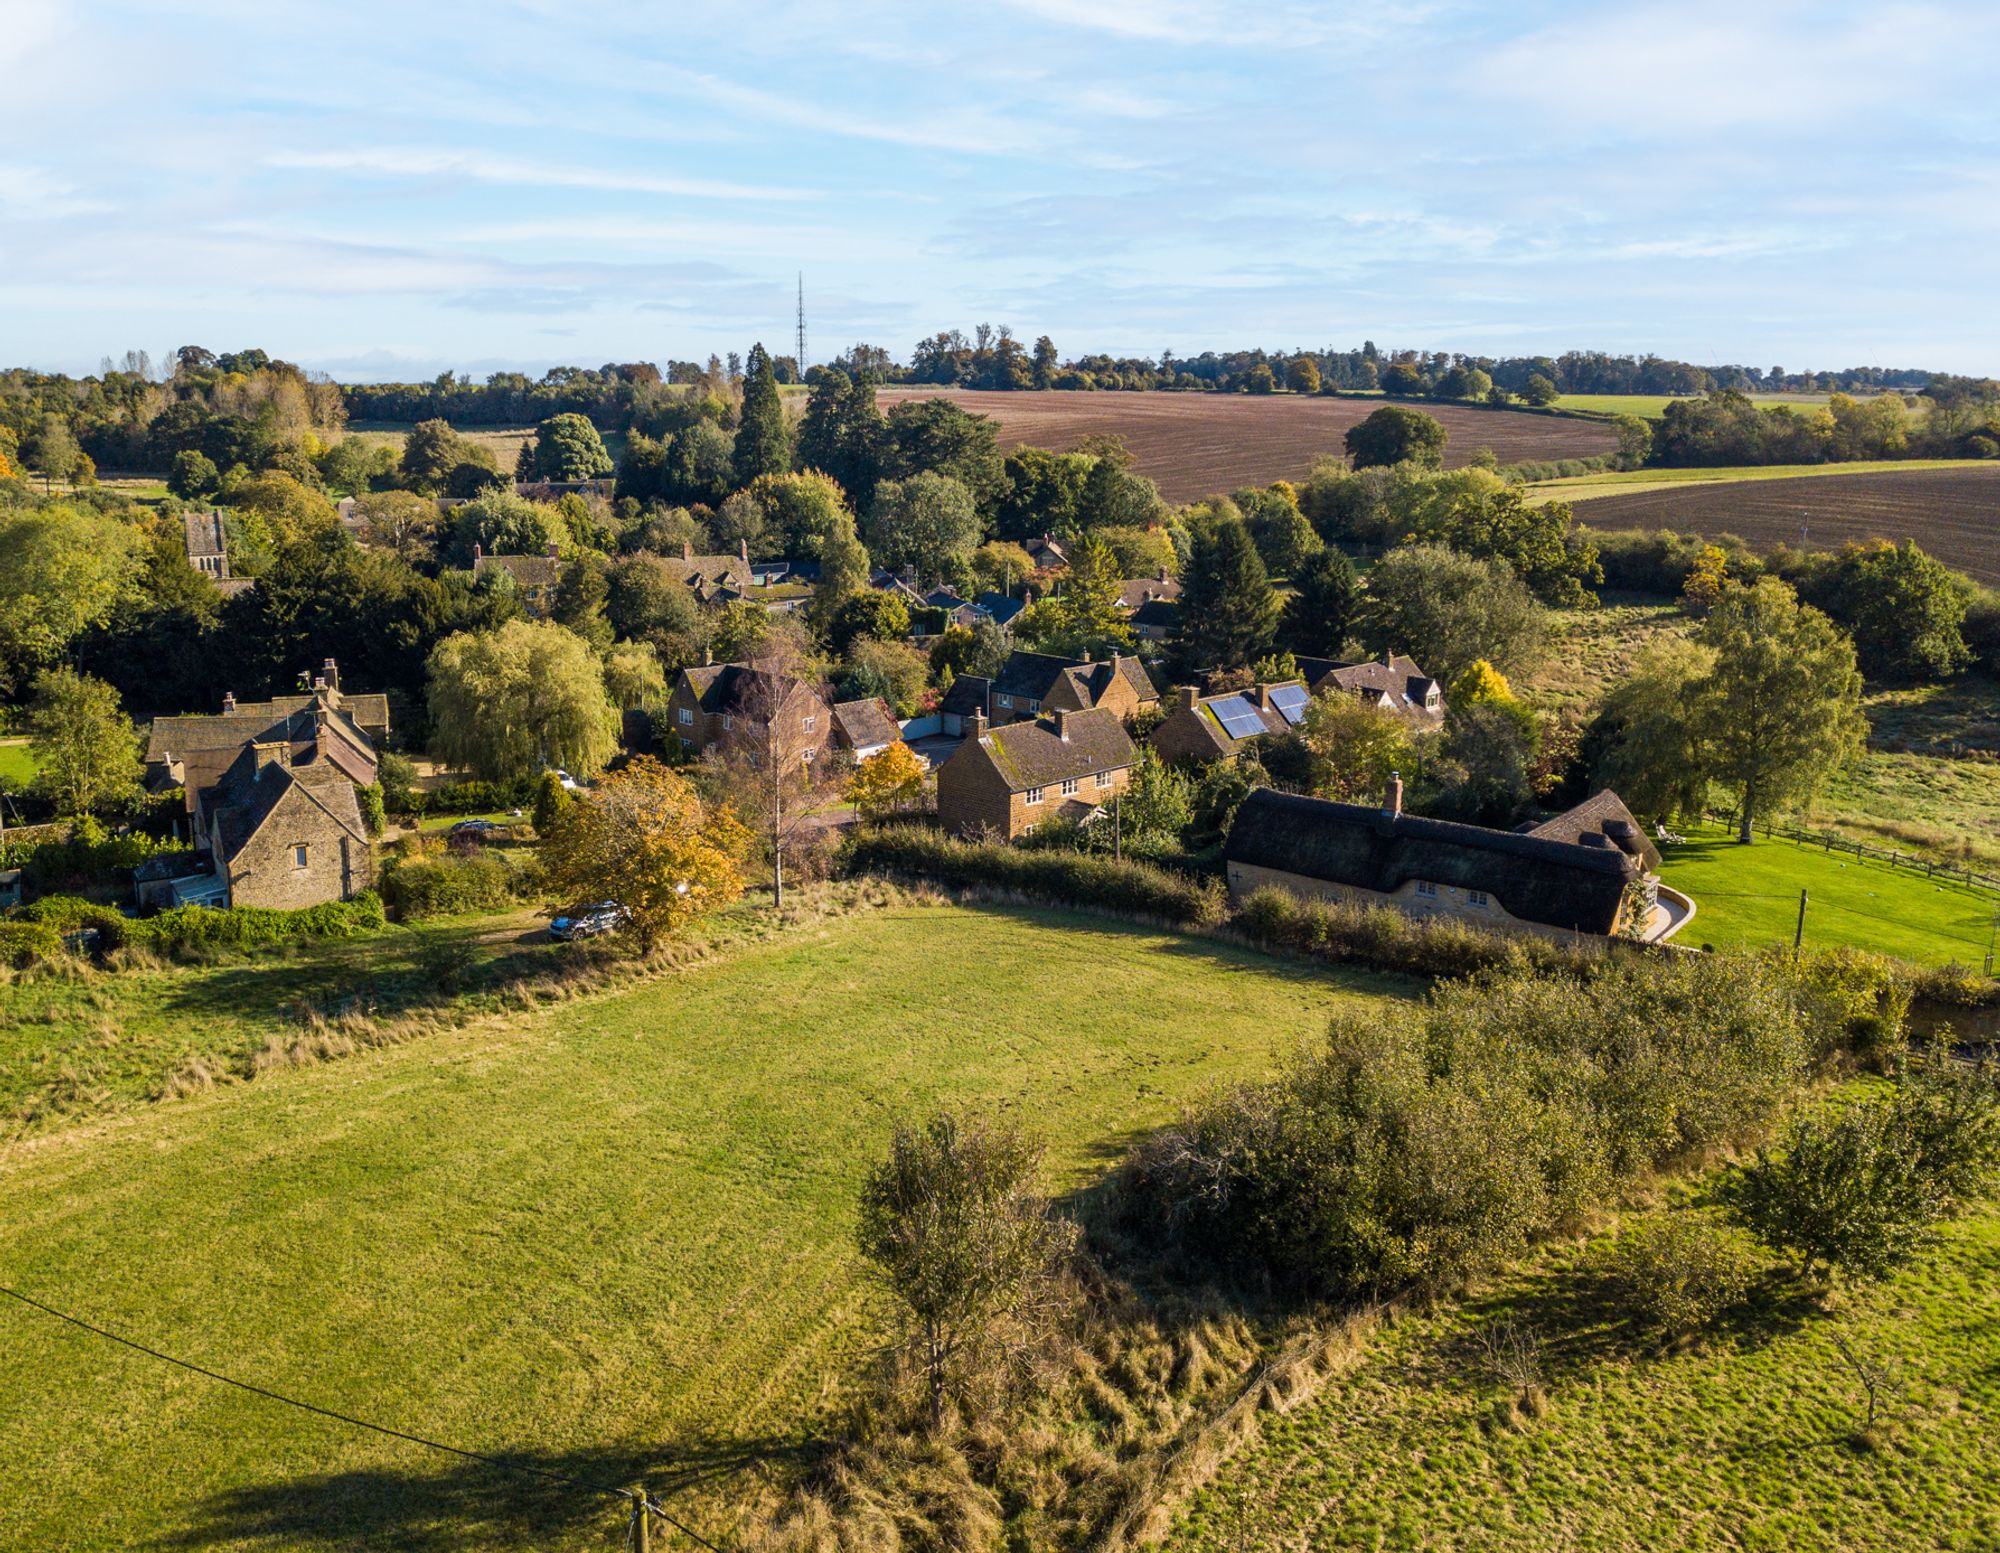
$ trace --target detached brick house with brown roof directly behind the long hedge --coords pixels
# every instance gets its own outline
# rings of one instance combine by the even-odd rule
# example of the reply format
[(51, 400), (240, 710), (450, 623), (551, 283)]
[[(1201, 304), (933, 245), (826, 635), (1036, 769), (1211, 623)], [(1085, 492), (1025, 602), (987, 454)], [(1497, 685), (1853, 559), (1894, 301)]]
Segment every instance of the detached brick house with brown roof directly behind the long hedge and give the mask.
[(1106, 708), (1056, 710), (994, 728), (974, 712), (938, 768), (938, 823), (954, 837), (1014, 841), (1052, 817), (1084, 819), (1124, 793), (1138, 748)]

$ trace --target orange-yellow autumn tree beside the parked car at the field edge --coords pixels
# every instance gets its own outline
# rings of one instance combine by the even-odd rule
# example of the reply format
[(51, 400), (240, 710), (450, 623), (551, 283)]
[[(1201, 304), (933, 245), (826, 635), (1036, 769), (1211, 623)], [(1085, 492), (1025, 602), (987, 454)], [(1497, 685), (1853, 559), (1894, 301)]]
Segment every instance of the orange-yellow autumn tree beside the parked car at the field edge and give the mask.
[(632, 913), (640, 951), (742, 895), (748, 833), (726, 805), (638, 756), (560, 809), (538, 851), (550, 889), (616, 901)]

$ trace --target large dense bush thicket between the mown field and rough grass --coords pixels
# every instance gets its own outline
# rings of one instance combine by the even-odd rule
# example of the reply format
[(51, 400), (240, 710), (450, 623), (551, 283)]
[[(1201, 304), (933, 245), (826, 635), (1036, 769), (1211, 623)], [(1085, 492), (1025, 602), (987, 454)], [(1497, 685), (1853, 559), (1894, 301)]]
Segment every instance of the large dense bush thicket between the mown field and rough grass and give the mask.
[(1442, 1289), (1760, 1129), (1820, 1047), (1810, 1005), (1756, 961), (1454, 981), (1342, 1015), (1276, 1079), (1192, 1107), (1134, 1151), (1120, 1207), (1230, 1277)]

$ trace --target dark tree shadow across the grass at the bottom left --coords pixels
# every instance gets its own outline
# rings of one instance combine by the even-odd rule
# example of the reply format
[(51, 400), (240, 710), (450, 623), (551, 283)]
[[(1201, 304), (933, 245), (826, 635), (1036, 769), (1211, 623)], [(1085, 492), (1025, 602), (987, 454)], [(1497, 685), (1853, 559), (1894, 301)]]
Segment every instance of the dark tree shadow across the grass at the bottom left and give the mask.
[[(316, 1473), (218, 1493), (194, 1511), (184, 1531), (150, 1547), (334, 1545), (406, 1553), (622, 1547), (632, 1507), (610, 1489), (640, 1481), (678, 1519), (714, 1539), (700, 1511), (672, 1495), (804, 1455), (796, 1441), (772, 1437), (658, 1451), (514, 1451), (500, 1455), (504, 1465), (440, 1457), (434, 1471)], [(666, 1525), (654, 1521), (654, 1533), (664, 1537)]]

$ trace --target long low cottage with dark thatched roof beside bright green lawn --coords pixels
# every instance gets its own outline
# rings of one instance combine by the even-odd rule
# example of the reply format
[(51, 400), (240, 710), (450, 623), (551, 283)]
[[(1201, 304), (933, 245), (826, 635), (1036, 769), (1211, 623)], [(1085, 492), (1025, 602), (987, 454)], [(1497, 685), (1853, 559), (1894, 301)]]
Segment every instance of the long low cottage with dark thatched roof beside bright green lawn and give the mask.
[(1402, 781), (1380, 807), (1260, 787), (1222, 857), (1230, 899), (1262, 887), (1412, 917), (1456, 917), (1560, 941), (1672, 937), (1694, 905), (1658, 883), (1658, 853), (1616, 793), (1532, 831), (1488, 831), (1402, 813)]

